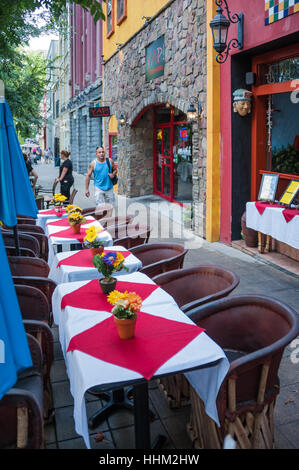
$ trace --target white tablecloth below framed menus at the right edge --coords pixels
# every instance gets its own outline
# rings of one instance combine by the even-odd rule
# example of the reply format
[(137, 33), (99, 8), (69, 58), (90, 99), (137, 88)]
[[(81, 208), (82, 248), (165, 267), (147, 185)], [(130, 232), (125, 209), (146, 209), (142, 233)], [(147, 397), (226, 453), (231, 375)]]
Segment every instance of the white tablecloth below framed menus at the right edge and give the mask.
[(261, 215), (254, 202), (246, 204), (246, 225), (257, 232), (270, 235), (280, 242), (299, 249), (299, 216), (286, 222), (280, 207), (267, 207)]

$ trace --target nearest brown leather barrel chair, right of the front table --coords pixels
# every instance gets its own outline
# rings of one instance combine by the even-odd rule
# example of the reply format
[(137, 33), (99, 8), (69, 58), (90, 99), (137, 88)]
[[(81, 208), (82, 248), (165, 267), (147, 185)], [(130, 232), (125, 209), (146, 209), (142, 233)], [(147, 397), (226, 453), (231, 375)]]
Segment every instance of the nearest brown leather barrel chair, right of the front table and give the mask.
[(297, 312), (270, 297), (240, 295), (194, 309), (190, 318), (206, 329), (230, 361), (217, 397), (220, 428), (190, 387), (187, 429), (194, 446), (222, 448), (230, 434), (237, 448), (273, 448), (277, 373), (285, 347), (299, 334)]

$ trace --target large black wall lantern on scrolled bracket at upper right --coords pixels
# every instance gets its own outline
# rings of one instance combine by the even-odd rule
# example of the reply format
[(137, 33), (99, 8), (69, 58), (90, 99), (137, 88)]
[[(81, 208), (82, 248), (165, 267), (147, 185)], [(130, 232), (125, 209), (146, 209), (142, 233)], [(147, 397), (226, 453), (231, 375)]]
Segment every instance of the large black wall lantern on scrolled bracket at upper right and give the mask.
[[(223, 64), (226, 61), (229, 51), (232, 47), (243, 49), (244, 15), (243, 13), (234, 13), (231, 15), (226, 0), (215, 0), (215, 4), (218, 6), (216, 10), (217, 15), (210, 21), (210, 28), (213, 34), (214, 49), (216, 52), (218, 52), (216, 61), (219, 64)], [(228, 18), (222, 14), (223, 9), (221, 7), (223, 4), (227, 11)], [(227, 44), (227, 34), (231, 23), (238, 23), (238, 39), (231, 39)]]

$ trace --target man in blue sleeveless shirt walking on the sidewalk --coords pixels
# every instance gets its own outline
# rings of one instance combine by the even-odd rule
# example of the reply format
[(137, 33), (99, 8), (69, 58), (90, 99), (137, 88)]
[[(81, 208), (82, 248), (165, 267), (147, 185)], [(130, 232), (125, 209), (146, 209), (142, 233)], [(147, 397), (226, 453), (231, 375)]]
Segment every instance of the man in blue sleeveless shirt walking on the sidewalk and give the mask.
[(89, 183), (92, 173), (94, 174), (95, 203), (111, 204), (114, 203), (113, 178), (116, 177), (117, 169), (109, 158), (106, 158), (104, 147), (96, 148), (96, 159), (93, 160), (88, 168), (85, 180), (85, 195), (90, 196)]

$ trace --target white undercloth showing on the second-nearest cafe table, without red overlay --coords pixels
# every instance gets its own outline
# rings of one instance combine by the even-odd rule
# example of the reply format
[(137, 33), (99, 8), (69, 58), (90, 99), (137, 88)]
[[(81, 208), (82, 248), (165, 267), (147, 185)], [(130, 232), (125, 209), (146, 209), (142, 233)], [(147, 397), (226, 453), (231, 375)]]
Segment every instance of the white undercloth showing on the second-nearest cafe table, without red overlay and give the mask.
[[(109, 251), (128, 251), (123, 246), (112, 246), (109, 247)], [(68, 258), (69, 256), (73, 256), (78, 251), (66, 251), (63, 253), (57, 253), (54, 256), (52, 265), (50, 266), (50, 273), (49, 277), (53, 279), (57, 284), (62, 284), (65, 282), (75, 282), (75, 281), (85, 281), (88, 279), (100, 279), (103, 277), (99, 271), (94, 267), (82, 267), (82, 266), (70, 266), (62, 264), (57, 267), (59, 261)], [(138, 269), (142, 268), (142, 262), (136, 258), (136, 256), (131, 253), (129, 256), (125, 258), (124, 264), (129, 271), (125, 271), (122, 269), (119, 272), (113, 274), (113, 276), (119, 276), (126, 273), (134, 273), (138, 271)]]

